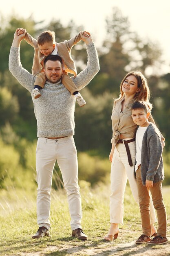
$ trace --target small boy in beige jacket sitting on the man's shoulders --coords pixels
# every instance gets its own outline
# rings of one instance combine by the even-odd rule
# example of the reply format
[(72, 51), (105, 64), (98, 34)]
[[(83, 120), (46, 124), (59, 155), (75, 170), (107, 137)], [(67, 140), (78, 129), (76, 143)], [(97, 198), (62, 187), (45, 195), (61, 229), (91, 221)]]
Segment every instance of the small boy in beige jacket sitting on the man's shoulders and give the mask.
[[(23, 34), (25, 29), (18, 29), (17, 34)], [(38, 41), (35, 40), (31, 35), (27, 32), (25, 34), (25, 40), (27, 43), (32, 45), (35, 49), (34, 59), (33, 59), (33, 67), (32, 74), (33, 76), (37, 76), (34, 83), (33, 89), (33, 97), (34, 99), (38, 99), (41, 96), (40, 89), (44, 88), (44, 84), (46, 81), (46, 76), (43, 72), (44, 69), (44, 59), (46, 56), (50, 54), (57, 54), (62, 57), (63, 61), (63, 74), (62, 74), (62, 84), (66, 87), (66, 89), (71, 92), (72, 95), (75, 95), (77, 102), (80, 107), (86, 104), (86, 101), (83, 99), (82, 95), (79, 93), (79, 90), (76, 88), (72, 79), (68, 76), (67, 72), (74, 74), (74, 77), (77, 76), (76, 67), (73, 59), (71, 58), (71, 48), (73, 45), (76, 45), (82, 38), (81, 36), (89, 37), (89, 33), (84, 31), (83, 34), (80, 32), (74, 38), (70, 40), (65, 40), (63, 43), (55, 43), (55, 32), (54, 31), (44, 31), (38, 37)]]

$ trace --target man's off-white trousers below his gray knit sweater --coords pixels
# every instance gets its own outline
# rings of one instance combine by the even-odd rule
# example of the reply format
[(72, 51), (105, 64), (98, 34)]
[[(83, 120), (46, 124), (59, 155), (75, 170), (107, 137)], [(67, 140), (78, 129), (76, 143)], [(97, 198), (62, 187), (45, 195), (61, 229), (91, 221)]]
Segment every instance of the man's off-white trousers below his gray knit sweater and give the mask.
[(73, 136), (61, 139), (38, 138), (36, 148), (38, 225), (50, 229), (50, 192), (56, 160), (67, 192), (71, 229), (81, 228), (82, 206), (78, 185), (77, 150)]

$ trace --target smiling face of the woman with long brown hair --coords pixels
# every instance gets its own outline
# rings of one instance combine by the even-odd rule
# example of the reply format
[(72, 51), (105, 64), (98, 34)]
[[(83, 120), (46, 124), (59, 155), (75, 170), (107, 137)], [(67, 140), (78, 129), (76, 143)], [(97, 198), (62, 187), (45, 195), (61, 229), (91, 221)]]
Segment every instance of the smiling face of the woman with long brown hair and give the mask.
[(139, 90), (136, 77), (133, 75), (128, 76), (122, 85), (122, 91), (128, 95), (135, 95)]

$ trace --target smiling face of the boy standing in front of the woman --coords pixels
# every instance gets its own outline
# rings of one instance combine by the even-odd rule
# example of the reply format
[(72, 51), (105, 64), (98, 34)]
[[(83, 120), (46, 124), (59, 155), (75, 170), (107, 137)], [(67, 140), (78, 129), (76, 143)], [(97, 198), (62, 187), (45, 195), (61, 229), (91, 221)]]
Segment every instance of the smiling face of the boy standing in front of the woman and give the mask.
[(135, 109), (135, 110), (132, 109), (132, 119), (135, 124), (137, 124), (141, 127), (148, 126), (149, 115), (150, 115), (150, 113), (146, 112), (146, 110), (144, 110), (143, 108), (139, 108), (139, 109)]

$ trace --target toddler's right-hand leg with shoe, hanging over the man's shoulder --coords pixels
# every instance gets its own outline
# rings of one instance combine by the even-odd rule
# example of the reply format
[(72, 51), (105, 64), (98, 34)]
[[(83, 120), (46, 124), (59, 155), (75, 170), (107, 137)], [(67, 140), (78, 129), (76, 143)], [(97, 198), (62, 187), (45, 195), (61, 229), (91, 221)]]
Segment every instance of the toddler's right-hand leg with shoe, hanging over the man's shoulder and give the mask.
[(73, 82), (73, 80), (68, 76), (67, 72), (63, 72), (62, 74), (62, 84), (72, 95), (76, 97), (80, 107), (86, 104), (86, 101), (83, 99), (82, 95), (79, 93), (79, 90), (75, 86), (75, 83)]

